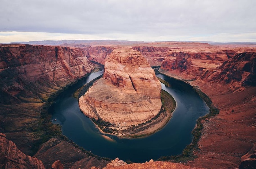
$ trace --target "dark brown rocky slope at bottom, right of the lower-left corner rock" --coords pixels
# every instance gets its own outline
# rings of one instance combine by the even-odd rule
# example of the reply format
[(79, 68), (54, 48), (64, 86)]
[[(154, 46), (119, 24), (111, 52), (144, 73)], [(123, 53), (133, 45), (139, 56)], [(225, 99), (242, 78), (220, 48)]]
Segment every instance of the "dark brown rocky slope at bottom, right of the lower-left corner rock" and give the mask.
[[(34, 157), (40, 159), (45, 168), (53, 168), (64, 165), (64, 168), (78, 169), (97, 166), (103, 168), (110, 160), (101, 160), (91, 156), (91, 153), (82, 151), (74, 143), (53, 137), (41, 145)], [(53, 165), (54, 164), (54, 165)]]

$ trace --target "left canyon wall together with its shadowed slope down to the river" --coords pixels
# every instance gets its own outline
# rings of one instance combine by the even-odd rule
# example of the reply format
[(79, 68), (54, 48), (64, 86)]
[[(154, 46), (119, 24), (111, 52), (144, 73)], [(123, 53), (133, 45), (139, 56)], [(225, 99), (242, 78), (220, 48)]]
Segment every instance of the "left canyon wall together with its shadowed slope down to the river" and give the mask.
[(53, 132), (44, 121), (49, 98), (93, 68), (77, 48), (0, 45), (0, 132), (33, 156)]

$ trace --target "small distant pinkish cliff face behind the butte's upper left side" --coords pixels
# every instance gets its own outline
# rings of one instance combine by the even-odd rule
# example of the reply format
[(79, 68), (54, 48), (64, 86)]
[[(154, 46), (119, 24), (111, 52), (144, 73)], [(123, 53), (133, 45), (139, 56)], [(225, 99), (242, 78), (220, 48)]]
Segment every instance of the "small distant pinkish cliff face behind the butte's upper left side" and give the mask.
[(90, 61), (105, 64), (108, 56), (113, 51), (113, 47), (95, 46), (95, 47), (84, 47), (82, 50), (86, 54)]

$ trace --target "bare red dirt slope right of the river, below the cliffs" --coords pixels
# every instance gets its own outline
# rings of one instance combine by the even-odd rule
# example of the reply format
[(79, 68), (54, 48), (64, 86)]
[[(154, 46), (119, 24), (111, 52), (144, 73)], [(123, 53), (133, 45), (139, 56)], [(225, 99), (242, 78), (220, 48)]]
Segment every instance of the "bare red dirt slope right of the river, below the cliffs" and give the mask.
[(231, 93), (223, 84), (191, 82), (200, 87), (220, 113), (203, 122), (204, 129), (188, 165), (196, 168), (238, 168), (241, 156), (256, 142), (256, 87)]

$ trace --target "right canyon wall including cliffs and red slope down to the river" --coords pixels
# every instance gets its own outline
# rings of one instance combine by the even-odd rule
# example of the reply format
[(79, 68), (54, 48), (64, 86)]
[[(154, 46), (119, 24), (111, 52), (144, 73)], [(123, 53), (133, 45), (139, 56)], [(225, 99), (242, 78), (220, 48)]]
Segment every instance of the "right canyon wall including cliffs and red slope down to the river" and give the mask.
[[(201, 47), (201, 48), (200, 48)], [(216, 117), (202, 121), (196, 168), (238, 168), (241, 157), (255, 144), (256, 48), (197, 46), (172, 49), (160, 72), (184, 80), (211, 98)], [(248, 162), (248, 163), (247, 163)], [(255, 161), (243, 161), (255, 167)], [(248, 166), (249, 166), (248, 165)], [(253, 168), (253, 167), (252, 167)]]

